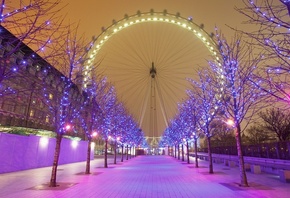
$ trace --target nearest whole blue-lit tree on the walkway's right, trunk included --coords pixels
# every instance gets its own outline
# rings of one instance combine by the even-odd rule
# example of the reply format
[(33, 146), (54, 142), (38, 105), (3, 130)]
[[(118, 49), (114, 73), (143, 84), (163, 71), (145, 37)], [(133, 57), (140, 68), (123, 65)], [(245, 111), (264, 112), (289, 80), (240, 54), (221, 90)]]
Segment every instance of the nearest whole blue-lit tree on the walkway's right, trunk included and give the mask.
[[(232, 121), (235, 128), (235, 137), (238, 150), (240, 179), (242, 186), (248, 186), (244, 158), (242, 153), (241, 134), (246, 126), (253, 120), (253, 116), (262, 107), (266, 98), (255, 81), (255, 72), (259, 58), (250, 45), (242, 42), (241, 35), (235, 35), (232, 42), (216, 33), (216, 42), (221, 54), (221, 63), (210, 62), (210, 66), (218, 76), (215, 84), (219, 84), (220, 100), (223, 104), (223, 117), (225, 121)], [(244, 123), (242, 128), (241, 123)]]

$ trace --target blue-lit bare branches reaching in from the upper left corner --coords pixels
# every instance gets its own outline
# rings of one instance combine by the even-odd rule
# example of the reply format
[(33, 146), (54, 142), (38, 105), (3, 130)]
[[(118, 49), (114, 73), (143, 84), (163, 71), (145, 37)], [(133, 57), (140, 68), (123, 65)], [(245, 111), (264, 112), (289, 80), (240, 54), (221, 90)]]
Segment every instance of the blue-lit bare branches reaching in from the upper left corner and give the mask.
[(61, 10), (59, 0), (0, 2), (0, 99), (18, 107), (16, 114), (25, 119), (25, 127), (30, 127), (30, 107), (42, 89), (31, 74), (41, 73), (41, 65), (59, 54), (52, 44), (64, 30)]

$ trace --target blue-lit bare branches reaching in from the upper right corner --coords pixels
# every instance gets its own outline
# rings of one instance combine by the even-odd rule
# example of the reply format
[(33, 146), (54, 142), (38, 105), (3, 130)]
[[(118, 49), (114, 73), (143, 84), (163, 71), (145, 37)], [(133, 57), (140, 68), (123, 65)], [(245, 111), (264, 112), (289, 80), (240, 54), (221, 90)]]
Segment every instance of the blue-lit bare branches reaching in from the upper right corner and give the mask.
[[(247, 17), (247, 30), (239, 30), (251, 38), (250, 44), (261, 51), (259, 74), (261, 90), (274, 99), (286, 102), (289, 97), (290, 38), (288, 0), (243, 0), (245, 7), (236, 8)], [(249, 28), (250, 27), (250, 28)]]

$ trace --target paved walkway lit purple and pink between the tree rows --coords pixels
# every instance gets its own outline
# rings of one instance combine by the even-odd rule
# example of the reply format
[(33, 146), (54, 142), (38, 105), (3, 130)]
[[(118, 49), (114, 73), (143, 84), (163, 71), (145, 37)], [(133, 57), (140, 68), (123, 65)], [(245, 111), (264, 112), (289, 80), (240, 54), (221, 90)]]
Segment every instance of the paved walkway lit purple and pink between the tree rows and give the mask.
[[(192, 162), (194, 159), (191, 159)], [(238, 186), (238, 168), (214, 164), (208, 174), (207, 163), (200, 168), (169, 156), (138, 156), (117, 165), (102, 159), (91, 163), (92, 174), (85, 175), (85, 163), (58, 168), (58, 187), (50, 188), (51, 168), (39, 168), (0, 175), (0, 197), (5, 198), (263, 198), (290, 197), (290, 184), (269, 174), (247, 173), (250, 187)]]

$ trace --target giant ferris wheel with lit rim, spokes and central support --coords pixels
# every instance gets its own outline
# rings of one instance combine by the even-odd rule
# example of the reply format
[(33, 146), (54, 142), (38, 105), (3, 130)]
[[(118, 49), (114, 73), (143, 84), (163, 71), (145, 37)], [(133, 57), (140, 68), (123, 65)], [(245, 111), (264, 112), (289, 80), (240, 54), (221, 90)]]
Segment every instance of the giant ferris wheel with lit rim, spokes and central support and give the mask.
[(154, 147), (186, 98), (187, 79), (209, 58), (219, 59), (212, 36), (191, 18), (166, 10), (125, 15), (102, 30), (83, 70), (84, 89), (92, 76), (106, 76)]

